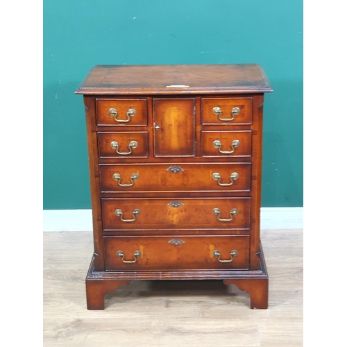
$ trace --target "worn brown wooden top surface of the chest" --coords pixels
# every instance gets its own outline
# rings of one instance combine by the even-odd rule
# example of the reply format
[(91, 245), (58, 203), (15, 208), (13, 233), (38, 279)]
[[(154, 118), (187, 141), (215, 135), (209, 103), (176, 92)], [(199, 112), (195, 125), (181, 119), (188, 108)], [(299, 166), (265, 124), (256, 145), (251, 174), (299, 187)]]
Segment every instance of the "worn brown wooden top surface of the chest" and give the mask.
[(96, 65), (76, 90), (85, 95), (272, 92), (257, 64)]

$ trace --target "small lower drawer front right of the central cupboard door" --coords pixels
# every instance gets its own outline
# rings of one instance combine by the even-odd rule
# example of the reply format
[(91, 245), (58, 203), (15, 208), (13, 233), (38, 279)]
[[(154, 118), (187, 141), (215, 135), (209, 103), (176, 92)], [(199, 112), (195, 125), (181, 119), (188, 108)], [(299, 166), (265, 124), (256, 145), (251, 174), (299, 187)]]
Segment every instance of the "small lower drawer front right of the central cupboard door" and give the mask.
[(250, 157), (251, 137), (251, 130), (202, 131), (201, 156)]

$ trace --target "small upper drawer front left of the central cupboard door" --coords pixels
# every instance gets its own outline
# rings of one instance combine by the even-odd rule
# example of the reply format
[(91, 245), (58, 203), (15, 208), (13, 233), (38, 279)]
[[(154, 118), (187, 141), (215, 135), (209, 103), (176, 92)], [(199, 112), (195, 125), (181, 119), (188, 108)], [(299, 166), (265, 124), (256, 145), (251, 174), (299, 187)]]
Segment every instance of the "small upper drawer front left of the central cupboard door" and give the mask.
[(96, 99), (99, 126), (146, 126), (146, 99)]

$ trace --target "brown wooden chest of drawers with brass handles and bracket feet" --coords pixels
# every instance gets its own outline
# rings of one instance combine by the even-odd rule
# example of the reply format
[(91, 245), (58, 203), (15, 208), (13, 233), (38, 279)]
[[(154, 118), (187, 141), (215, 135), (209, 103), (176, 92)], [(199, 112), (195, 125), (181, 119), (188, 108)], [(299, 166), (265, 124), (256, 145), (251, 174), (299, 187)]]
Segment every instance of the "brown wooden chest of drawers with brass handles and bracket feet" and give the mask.
[(83, 94), (94, 228), (87, 308), (130, 280), (223, 280), (267, 308), (259, 65), (94, 67)]

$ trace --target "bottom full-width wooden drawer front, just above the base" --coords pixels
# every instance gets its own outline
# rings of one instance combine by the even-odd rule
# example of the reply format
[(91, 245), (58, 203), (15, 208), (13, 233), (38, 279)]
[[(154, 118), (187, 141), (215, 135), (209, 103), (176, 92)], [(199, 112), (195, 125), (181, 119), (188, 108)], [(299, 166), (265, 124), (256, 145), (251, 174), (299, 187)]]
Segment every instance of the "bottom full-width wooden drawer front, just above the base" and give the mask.
[(104, 241), (106, 271), (249, 267), (248, 235), (104, 237)]

